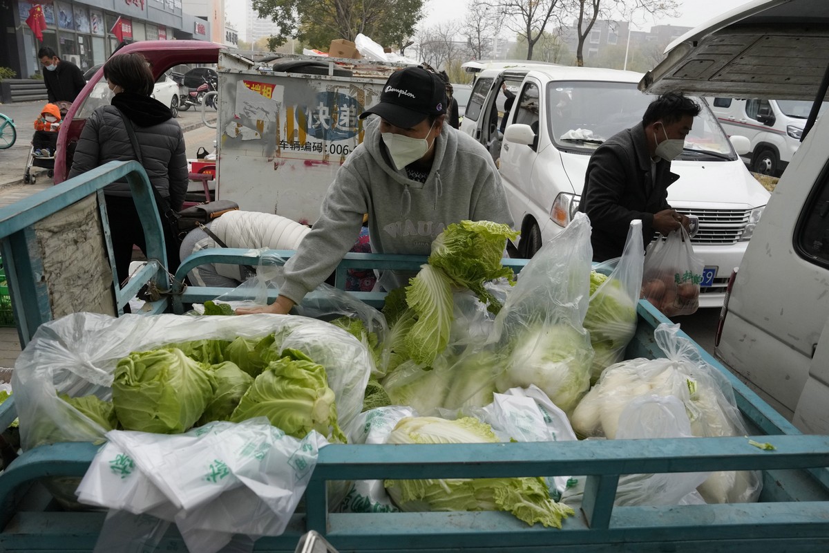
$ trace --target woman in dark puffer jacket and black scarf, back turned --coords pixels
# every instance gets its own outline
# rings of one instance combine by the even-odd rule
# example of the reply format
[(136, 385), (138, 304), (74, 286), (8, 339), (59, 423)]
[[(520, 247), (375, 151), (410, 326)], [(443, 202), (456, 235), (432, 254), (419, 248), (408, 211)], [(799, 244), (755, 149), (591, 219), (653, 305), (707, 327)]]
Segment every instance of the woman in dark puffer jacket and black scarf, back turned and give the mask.
[[(138, 159), (121, 114), (132, 122), (141, 163), (153, 186), (172, 209), (182, 209), (187, 193), (187, 154), (182, 128), (166, 105), (153, 94), (153, 73), (140, 54), (116, 54), (104, 64), (104, 78), (114, 92), (111, 105), (103, 105), (86, 120), (72, 158), (70, 177), (90, 171), (111, 161)], [(115, 256), (115, 271), (120, 282), (128, 279), (133, 245), (146, 253), (143, 228), (138, 220), (133, 197), (126, 180), (104, 188), (109, 230)], [(159, 206), (164, 240), (167, 245), (167, 268), (178, 268), (177, 240), (164, 224)]]

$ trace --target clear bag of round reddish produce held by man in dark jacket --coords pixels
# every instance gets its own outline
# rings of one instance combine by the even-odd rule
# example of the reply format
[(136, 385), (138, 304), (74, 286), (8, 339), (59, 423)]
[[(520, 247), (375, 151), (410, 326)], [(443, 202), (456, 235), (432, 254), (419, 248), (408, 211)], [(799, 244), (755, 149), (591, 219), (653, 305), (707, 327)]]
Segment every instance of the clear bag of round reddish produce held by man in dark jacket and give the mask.
[(667, 239), (655, 240), (645, 255), (642, 298), (667, 317), (691, 315), (700, 307), (700, 283), (705, 264), (694, 254), (684, 226)]

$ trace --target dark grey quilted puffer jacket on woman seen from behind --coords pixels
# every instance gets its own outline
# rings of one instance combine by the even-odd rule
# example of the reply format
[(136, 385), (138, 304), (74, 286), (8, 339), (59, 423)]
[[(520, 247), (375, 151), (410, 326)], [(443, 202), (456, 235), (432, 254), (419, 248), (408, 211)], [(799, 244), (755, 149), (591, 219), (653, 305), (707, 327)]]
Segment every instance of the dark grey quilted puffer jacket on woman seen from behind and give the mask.
[[(137, 159), (121, 119), (122, 111), (133, 123), (143, 167), (150, 182), (162, 197), (170, 201), (174, 210), (180, 210), (188, 182), (184, 135), (167, 106), (148, 96), (123, 92), (115, 95), (113, 105), (95, 109), (80, 133), (69, 177), (111, 161)], [(126, 180), (110, 184), (104, 192), (113, 196), (130, 196)]]

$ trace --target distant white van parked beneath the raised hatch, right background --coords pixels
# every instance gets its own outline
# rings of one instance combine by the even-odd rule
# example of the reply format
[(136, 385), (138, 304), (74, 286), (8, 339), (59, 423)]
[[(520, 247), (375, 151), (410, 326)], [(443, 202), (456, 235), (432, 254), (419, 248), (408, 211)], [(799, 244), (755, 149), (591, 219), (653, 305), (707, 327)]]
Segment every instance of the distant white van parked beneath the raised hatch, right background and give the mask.
[[(800, 99), (706, 98), (727, 134), (749, 138), (744, 157), (754, 172), (779, 177), (800, 146), (812, 102)], [(822, 111), (823, 109), (821, 109)]]

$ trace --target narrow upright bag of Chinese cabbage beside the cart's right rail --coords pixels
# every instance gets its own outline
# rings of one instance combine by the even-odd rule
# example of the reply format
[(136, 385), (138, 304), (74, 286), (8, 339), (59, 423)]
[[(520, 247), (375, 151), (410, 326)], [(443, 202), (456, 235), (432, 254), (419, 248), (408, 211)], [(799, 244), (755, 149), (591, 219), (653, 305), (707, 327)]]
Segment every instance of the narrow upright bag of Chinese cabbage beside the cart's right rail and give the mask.
[(584, 328), (590, 332), (595, 357), (590, 382), (599, 380), (604, 368), (624, 358), (625, 348), (636, 333), (636, 306), (642, 290), (642, 222), (633, 221), (628, 229), (622, 256), (594, 267), (608, 278), (590, 294)]

